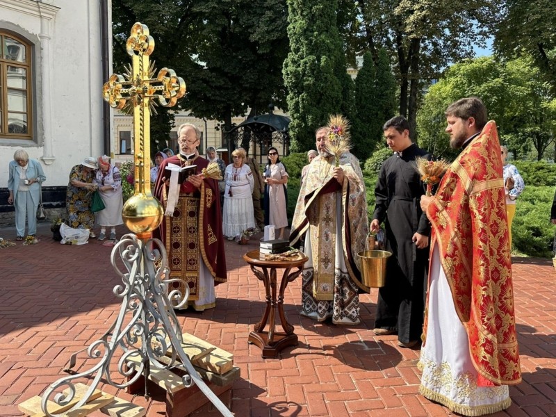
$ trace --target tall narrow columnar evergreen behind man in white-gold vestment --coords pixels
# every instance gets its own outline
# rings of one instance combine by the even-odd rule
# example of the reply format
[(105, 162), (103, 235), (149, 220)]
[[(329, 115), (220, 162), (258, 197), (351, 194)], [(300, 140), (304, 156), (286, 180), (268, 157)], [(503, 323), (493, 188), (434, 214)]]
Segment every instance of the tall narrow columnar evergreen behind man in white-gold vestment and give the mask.
[(337, 0), (288, 0), (290, 52), (284, 84), (291, 115), (292, 151), (313, 147), (314, 131), (332, 113), (350, 117), (352, 84), (345, 78), (345, 57), (336, 26)]

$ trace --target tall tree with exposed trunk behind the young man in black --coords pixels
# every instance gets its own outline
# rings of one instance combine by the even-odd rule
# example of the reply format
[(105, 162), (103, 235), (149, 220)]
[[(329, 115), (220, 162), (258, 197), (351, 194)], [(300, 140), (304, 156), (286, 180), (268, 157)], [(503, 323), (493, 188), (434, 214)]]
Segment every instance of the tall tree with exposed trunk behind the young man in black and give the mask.
[(413, 139), (423, 86), (438, 79), (449, 63), (471, 58), (476, 44), (484, 45), (498, 3), (496, 0), (341, 1), (347, 55), (370, 51), (377, 63), (380, 47), (386, 47), (395, 58), (399, 111), (409, 120)]

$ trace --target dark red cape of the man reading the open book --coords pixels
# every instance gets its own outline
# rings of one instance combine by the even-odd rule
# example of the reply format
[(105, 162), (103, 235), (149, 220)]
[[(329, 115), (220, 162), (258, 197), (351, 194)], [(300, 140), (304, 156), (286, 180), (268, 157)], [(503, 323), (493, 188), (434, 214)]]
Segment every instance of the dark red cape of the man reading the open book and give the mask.
[[(171, 156), (162, 161), (158, 169), (158, 177), (154, 185), (154, 197), (158, 198), (164, 205), (165, 183), (165, 167), (168, 163), (183, 165), (179, 156)], [(208, 161), (205, 158), (197, 156), (193, 160), (193, 165), (197, 165), (195, 174), (200, 174), (203, 168), (206, 168)], [(181, 184), (179, 194), (188, 194), (193, 197), (199, 197), (199, 245), (200, 253), (206, 268), (214, 277), (215, 285), (227, 281), (226, 256), (224, 254), (224, 239), (222, 237), (222, 214), (220, 211), (220, 193), (218, 190), (218, 181), (215, 179), (204, 179), (200, 190), (195, 188), (193, 184), (184, 182)], [(160, 227), (153, 232), (155, 238), (165, 242), (166, 221), (163, 220)], [(169, 260), (170, 262), (171, 260)]]

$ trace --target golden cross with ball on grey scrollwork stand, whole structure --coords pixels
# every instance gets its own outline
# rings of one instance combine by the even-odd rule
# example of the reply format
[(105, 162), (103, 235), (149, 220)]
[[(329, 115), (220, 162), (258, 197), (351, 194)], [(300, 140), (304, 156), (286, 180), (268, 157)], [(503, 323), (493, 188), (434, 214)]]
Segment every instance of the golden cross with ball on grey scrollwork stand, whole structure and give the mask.
[[(113, 325), (87, 349), (88, 357), (99, 359), (99, 362), (83, 373), (60, 378), (51, 384), (42, 395), (42, 411), (47, 416), (60, 416), (60, 407), (63, 407), (63, 414), (79, 409), (88, 402), (103, 377), (108, 384), (122, 389), (143, 375), (147, 395), (151, 367), (169, 369), (179, 366), (186, 370), (182, 377), (184, 386), (197, 384), (222, 416), (232, 417), (231, 411), (199, 377), (183, 351), (181, 329), (174, 308), (188, 302), (188, 288), (186, 286), (184, 297), (179, 290), (168, 294), (168, 284), (176, 280), (164, 279), (168, 273), (166, 250), (161, 240), (152, 238), (152, 231), (164, 217), (161, 203), (150, 191), (148, 158), (152, 99), (162, 106), (174, 106), (177, 99), (185, 94), (186, 85), (183, 79), (167, 68), (153, 78), (155, 70), (149, 63), (149, 55), (154, 50), (154, 40), (144, 24), (133, 25), (126, 49), (133, 58), (133, 67), (128, 69), (126, 77), (113, 74), (103, 87), (104, 99), (113, 108), (133, 108), (135, 193), (124, 204), (122, 218), (135, 234), (123, 236), (111, 254), (111, 264), (123, 283), (115, 286), (113, 293), (123, 300)], [(123, 268), (120, 268), (122, 265)], [(167, 355), (170, 360), (166, 359), (167, 363), (163, 363), (161, 359)], [(116, 360), (117, 374), (124, 379), (121, 383), (115, 382), (111, 375), (111, 365)], [(83, 377), (92, 379), (92, 383), (76, 402), (74, 380)], [(56, 404), (59, 414), (49, 412), (52, 402)]]

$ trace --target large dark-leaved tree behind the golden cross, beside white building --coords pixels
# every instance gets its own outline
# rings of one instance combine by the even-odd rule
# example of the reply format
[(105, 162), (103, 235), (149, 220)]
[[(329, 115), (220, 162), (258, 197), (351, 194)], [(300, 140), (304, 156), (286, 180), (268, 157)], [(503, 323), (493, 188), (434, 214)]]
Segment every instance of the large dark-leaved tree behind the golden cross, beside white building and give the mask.
[[(187, 84), (182, 110), (219, 120), (274, 103), (286, 108), (281, 66), (288, 51), (286, 0), (113, 0), (115, 67), (129, 63), (125, 41), (135, 22), (155, 38), (153, 58)], [(158, 112), (152, 138), (166, 140), (173, 113)], [(156, 148), (153, 148), (156, 149)]]

